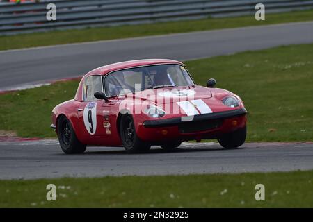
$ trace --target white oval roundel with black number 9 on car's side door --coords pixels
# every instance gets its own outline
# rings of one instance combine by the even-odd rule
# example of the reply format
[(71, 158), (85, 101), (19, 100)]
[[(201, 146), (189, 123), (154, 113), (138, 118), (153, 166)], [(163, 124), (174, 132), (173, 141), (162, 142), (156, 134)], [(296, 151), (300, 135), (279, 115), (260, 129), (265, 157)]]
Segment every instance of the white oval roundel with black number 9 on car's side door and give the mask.
[(87, 103), (83, 110), (83, 123), (90, 135), (94, 135), (97, 130), (97, 103)]

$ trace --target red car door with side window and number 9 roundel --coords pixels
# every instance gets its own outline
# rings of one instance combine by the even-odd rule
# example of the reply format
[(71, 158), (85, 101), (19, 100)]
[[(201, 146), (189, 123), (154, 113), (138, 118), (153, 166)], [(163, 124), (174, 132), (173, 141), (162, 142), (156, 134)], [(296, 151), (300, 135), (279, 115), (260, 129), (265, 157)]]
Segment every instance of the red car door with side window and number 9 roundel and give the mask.
[(88, 76), (83, 82), (83, 102), (77, 109), (79, 129), (83, 135), (83, 143), (103, 145), (108, 137), (104, 125), (104, 113), (109, 112), (109, 107), (103, 105), (104, 101), (93, 96), (95, 92), (103, 92), (100, 75)]

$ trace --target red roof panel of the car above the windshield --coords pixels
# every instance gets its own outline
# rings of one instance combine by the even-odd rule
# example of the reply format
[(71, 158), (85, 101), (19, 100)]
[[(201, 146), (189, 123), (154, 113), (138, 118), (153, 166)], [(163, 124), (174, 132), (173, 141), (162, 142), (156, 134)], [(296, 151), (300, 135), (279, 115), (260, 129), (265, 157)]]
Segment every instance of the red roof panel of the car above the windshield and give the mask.
[[(131, 60), (125, 62), (117, 62), (110, 65), (104, 65), (103, 67), (98, 67), (97, 69), (93, 69), (92, 71), (88, 72), (86, 76), (90, 75), (106, 75), (112, 71), (117, 71), (120, 69), (127, 69), (131, 67), (141, 67), (146, 65), (161, 65), (161, 64), (178, 64), (184, 65), (182, 62), (176, 60), (167, 60), (167, 59), (145, 59), (145, 60)], [(86, 77), (85, 76), (85, 77)]]

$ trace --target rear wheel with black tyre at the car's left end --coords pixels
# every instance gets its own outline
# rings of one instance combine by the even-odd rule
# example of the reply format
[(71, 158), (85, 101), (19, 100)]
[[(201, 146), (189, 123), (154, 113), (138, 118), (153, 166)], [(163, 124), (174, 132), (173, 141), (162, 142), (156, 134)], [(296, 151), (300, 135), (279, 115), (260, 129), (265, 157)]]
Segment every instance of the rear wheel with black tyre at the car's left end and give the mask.
[(79, 142), (70, 121), (66, 117), (58, 119), (57, 132), (58, 142), (64, 153), (76, 154), (86, 151), (86, 145)]

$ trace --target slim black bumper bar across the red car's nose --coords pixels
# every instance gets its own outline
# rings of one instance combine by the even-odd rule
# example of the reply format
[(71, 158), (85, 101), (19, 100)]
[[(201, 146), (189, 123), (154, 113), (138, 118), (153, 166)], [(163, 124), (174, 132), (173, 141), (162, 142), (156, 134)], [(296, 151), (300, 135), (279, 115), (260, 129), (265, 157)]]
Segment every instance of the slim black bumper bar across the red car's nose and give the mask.
[[(216, 119), (227, 119), (231, 117), (239, 117), (241, 115), (247, 114), (247, 110), (245, 108), (239, 110), (230, 110), (225, 112), (213, 112), (209, 114), (201, 114), (193, 117), (190, 122), (200, 122), (204, 120), (216, 120)], [(186, 121), (182, 121), (182, 117), (171, 118), (171, 119), (157, 119), (157, 120), (146, 120), (143, 122), (143, 126), (147, 128), (154, 127), (164, 127), (164, 126), (178, 126), (179, 124), (184, 124)]]

